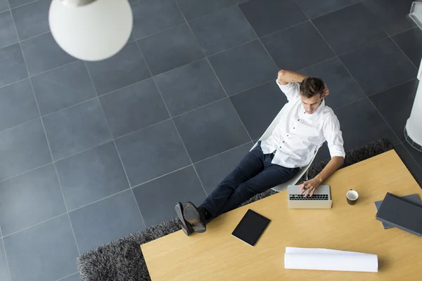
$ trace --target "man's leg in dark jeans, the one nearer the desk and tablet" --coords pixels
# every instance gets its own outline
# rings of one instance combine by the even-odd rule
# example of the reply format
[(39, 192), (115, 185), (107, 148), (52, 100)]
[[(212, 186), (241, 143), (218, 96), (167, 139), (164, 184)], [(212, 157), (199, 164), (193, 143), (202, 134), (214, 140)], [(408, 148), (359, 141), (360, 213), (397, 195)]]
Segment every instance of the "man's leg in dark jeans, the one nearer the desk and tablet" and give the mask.
[(274, 188), (274, 186), (281, 183), (286, 183), (286, 181), (293, 178), (299, 171), (299, 168), (286, 168), (271, 164), (271, 159), (272, 155), (265, 155), (264, 170), (248, 181), (241, 183), (230, 195), (229, 199), (226, 200), (226, 203), (217, 211), (215, 216), (236, 209), (240, 204), (258, 193), (264, 192), (269, 188)]

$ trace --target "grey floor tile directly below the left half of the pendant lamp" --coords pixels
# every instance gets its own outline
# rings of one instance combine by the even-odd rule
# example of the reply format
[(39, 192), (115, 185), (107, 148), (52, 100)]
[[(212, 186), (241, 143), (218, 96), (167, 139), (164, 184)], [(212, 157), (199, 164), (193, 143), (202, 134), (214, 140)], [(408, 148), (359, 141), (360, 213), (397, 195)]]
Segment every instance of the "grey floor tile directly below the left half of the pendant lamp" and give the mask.
[(96, 97), (94, 86), (80, 60), (31, 78), (41, 115)]

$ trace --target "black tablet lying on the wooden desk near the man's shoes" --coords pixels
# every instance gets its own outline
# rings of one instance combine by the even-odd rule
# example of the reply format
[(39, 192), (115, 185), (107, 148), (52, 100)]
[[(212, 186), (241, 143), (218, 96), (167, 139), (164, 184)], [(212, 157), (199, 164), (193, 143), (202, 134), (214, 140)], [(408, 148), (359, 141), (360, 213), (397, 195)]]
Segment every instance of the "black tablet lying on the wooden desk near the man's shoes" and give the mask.
[(250, 246), (255, 246), (269, 222), (269, 218), (248, 209), (231, 235), (238, 237), (238, 239), (250, 244)]

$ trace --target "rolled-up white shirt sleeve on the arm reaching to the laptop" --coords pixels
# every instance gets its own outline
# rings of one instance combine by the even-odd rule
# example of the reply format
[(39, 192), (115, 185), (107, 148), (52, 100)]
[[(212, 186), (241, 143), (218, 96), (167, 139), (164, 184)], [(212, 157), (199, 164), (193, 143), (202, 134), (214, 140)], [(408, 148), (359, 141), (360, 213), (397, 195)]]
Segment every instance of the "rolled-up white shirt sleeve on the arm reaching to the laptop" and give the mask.
[(324, 138), (327, 141), (328, 150), (330, 150), (331, 158), (345, 157), (345, 149), (343, 148), (343, 135), (340, 131), (340, 122), (335, 115), (330, 115), (324, 122)]

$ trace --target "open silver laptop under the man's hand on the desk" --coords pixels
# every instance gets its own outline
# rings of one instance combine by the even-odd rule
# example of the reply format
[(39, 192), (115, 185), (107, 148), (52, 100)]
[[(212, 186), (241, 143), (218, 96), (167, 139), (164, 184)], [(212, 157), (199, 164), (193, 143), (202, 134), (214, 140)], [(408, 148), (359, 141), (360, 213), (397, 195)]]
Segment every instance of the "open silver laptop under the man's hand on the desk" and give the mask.
[(287, 194), (288, 209), (330, 209), (333, 205), (330, 185), (320, 185), (310, 197), (300, 194), (299, 185), (288, 185)]

